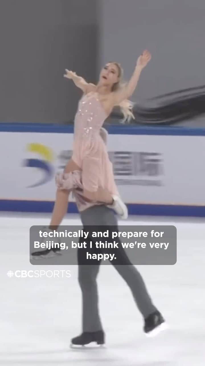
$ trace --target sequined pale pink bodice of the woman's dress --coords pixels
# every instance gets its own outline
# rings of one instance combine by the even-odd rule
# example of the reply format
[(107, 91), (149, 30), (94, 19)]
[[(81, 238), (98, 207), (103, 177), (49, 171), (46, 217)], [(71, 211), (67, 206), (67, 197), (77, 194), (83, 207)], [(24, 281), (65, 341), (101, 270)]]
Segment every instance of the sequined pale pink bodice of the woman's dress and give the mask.
[(74, 138), (94, 137), (107, 118), (96, 96), (84, 96), (78, 104), (74, 121)]

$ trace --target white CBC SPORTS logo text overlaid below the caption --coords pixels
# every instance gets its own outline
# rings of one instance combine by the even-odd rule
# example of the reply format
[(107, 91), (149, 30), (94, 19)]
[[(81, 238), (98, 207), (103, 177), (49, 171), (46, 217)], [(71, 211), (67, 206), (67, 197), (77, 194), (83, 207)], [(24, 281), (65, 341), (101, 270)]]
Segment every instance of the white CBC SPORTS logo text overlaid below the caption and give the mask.
[(15, 272), (13, 272), (12, 270), (9, 270), (7, 272), (7, 276), (9, 278), (12, 277), (16, 277), (16, 278), (42, 278), (42, 277), (47, 277), (47, 278), (70, 278), (71, 274), (70, 274), (70, 270), (16, 270)]

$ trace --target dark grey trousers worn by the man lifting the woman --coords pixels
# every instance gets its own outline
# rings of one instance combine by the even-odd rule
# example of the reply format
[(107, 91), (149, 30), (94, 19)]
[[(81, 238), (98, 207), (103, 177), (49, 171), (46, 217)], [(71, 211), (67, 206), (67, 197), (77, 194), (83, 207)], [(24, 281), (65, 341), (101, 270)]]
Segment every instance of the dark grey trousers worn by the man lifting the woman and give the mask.
[[(117, 227), (116, 216), (107, 206), (96, 205), (82, 211), (80, 215), (84, 226), (113, 225)], [(98, 310), (96, 282), (100, 264), (81, 265), (79, 264), (80, 255), (81, 249), (78, 250), (78, 281), (82, 291), (82, 330), (83, 332), (95, 332), (103, 329)], [(117, 265), (113, 262), (113, 266), (128, 284), (140, 313), (146, 318), (157, 309), (152, 304), (142, 276), (129, 261), (124, 249), (120, 251), (120, 263), (124, 264)]]

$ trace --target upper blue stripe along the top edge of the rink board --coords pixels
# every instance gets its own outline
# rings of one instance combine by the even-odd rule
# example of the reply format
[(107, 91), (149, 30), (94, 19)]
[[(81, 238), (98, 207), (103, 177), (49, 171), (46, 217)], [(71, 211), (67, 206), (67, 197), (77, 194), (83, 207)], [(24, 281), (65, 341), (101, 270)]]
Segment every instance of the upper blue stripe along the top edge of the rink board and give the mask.
[[(109, 134), (114, 135), (168, 135), (168, 136), (205, 136), (205, 128), (192, 127), (139, 127), (129, 125), (105, 124)], [(49, 123), (0, 123), (0, 132), (47, 132), (73, 133), (73, 125)]]

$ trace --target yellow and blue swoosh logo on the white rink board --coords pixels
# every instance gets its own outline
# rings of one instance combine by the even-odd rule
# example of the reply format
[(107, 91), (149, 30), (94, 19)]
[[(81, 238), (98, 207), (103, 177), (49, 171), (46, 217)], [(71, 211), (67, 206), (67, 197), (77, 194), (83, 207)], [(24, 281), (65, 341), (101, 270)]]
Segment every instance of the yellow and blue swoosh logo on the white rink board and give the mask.
[(33, 188), (41, 186), (51, 180), (53, 177), (54, 167), (53, 167), (53, 152), (52, 150), (40, 143), (30, 143), (27, 145), (27, 151), (30, 153), (37, 153), (42, 157), (42, 159), (32, 158), (32, 159), (25, 159), (24, 160), (24, 167), (30, 168), (39, 168), (43, 173), (44, 176), (38, 182), (28, 186), (27, 188)]

